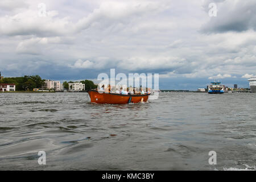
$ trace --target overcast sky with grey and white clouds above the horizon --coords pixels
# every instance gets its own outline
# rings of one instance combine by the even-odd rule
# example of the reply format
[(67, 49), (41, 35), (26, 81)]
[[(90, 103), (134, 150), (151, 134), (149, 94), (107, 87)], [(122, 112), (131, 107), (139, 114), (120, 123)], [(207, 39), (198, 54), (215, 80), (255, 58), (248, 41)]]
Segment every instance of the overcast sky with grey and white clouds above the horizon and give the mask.
[(0, 40), (5, 77), (84, 80), (115, 68), (159, 73), (160, 89), (196, 90), (214, 79), (248, 87), (256, 1), (1, 0)]

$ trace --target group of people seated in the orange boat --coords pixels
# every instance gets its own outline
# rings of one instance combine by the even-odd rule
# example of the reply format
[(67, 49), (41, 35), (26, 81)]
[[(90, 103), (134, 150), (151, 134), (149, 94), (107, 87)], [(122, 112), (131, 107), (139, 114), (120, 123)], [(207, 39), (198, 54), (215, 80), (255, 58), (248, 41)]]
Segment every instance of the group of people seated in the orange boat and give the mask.
[(124, 94), (124, 95), (128, 95), (128, 94), (150, 94), (150, 89), (146, 88), (146, 90), (144, 91), (142, 87), (140, 88), (127, 88), (127, 89), (123, 89), (122, 87), (120, 89), (115, 88), (115, 87), (111, 87), (110, 85), (108, 86), (108, 88), (105, 88), (105, 85), (102, 85), (100, 90), (109, 93), (115, 93), (115, 94)]

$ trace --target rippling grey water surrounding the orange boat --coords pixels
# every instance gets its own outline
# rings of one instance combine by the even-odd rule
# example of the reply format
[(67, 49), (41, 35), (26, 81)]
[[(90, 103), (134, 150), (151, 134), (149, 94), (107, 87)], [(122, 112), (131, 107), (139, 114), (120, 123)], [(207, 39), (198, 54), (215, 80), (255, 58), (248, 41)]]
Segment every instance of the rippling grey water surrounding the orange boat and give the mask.
[(255, 169), (255, 111), (254, 93), (160, 93), (129, 105), (92, 104), (87, 93), (0, 93), (0, 169)]

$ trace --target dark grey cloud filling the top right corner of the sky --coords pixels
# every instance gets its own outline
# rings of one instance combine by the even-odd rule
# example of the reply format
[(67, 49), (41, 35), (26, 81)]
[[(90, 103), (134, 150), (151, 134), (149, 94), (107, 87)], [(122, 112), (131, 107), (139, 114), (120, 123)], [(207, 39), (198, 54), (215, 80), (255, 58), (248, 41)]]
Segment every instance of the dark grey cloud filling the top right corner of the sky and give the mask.
[[(208, 2), (205, 11), (209, 11)], [(210, 18), (209, 22), (201, 27), (204, 33), (221, 33), (227, 31), (241, 32), (256, 30), (256, 1), (216, 1), (217, 16)]]

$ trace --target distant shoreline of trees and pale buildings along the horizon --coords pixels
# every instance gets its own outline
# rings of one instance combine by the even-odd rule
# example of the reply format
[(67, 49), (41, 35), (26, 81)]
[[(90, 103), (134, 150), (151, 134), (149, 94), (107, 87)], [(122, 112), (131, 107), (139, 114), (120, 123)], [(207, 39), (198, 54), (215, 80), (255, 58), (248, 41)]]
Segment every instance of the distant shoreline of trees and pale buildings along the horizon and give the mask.
[[(38, 79), (39, 78), (39, 79)], [(24, 81), (23, 81), (24, 80)], [(249, 80), (249, 88), (238, 88), (238, 84), (234, 84), (233, 88), (224, 86), (225, 92), (256, 92), (256, 76), (252, 76)], [(60, 91), (60, 92), (79, 92), (82, 90), (88, 90), (92, 88), (101, 88), (102, 83), (95, 85), (93, 81), (85, 80), (85, 81), (64, 81), (61, 83), (60, 81), (55, 80), (42, 80), (40, 76), (24, 76), (24, 77), (3, 77), (0, 72), (0, 91)], [(16, 84), (16, 85), (15, 85)], [(86, 85), (85, 85), (86, 84)], [(36, 85), (36, 86), (34, 86)], [(115, 88), (127, 89), (127, 85), (117, 85)], [(163, 90), (170, 91), (188, 91), (188, 90)], [(199, 88), (197, 91), (192, 92), (208, 92), (208, 88)]]

